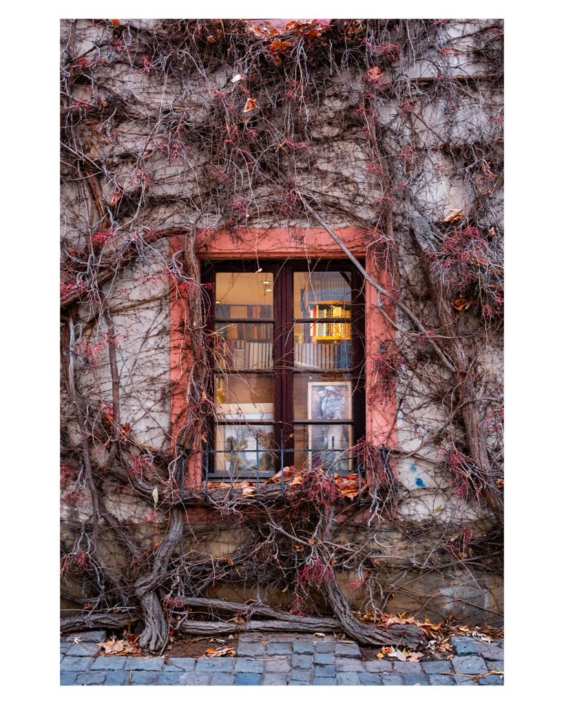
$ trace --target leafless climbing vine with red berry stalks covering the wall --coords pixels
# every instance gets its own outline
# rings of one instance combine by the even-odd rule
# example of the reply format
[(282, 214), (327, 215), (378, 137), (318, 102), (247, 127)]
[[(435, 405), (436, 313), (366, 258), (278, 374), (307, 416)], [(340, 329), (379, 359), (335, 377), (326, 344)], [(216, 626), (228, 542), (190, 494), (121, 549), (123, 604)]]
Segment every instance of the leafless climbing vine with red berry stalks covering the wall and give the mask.
[[(317, 616), (367, 644), (424, 640), (377, 623), (400, 586), (502, 566), (503, 23), (62, 27), (63, 628), (139, 622), (140, 645), (161, 650), (171, 631), (209, 634), (220, 618), (311, 630)], [(367, 353), (367, 404), (396, 400), (398, 442), (352, 449), (369, 470), (360, 486), (292, 468), (284, 495), (281, 477), (259, 493), (183, 491), (216, 414), (198, 258), (220, 231), (236, 249), (271, 227), (297, 247), (325, 229), (376, 289), (388, 334)], [(342, 227), (362, 234), (364, 265)], [(427, 480), (398, 477), (410, 464)], [(446, 520), (409, 510), (429, 490), (452, 501)], [(192, 527), (202, 508), (216, 522)], [(214, 557), (204, 545), (227, 518), (239, 546)], [(251, 607), (228, 604), (235, 623), (207, 597), (220, 582), (255, 590)], [(266, 605), (275, 589), (287, 610)]]

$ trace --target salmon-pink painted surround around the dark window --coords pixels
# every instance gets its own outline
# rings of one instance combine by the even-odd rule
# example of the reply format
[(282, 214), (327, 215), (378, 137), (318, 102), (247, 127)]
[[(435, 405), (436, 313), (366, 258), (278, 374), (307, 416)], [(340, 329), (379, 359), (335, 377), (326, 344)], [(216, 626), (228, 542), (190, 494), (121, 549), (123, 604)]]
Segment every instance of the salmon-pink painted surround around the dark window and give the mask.
[[(366, 256), (366, 240), (360, 229), (341, 228), (336, 233), (357, 258)], [(183, 248), (183, 237), (171, 237), (169, 241), (171, 253)], [(290, 238), (288, 229), (249, 229), (246, 239), (235, 248), (228, 232), (218, 232), (212, 239), (207, 239), (198, 251), (200, 261), (250, 261), (255, 271), (262, 268), (265, 272), (269, 260), (302, 261), (306, 269), (311, 269), (316, 261), (350, 261), (343, 251), (331, 239), (324, 229), (308, 229), (303, 244), (298, 244)], [(256, 265), (256, 268), (255, 268)], [(386, 287), (388, 273), (378, 271), (370, 259), (366, 268), (372, 277)], [(393, 310), (386, 311), (393, 320)], [(186, 389), (190, 376), (190, 357), (188, 354), (187, 336), (190, 335), (190, 317), (186, 301), (176, 293), (171, 293), (170, 326), (171, 326), (171, 429), (172, 436), (184, 424), (186, 407)], [(373, 287), (364, 285), (364, 350), (366, 354), (364, 365), (365, 381), (365, 434), (368, 441), (375, 445), (384, 444), (386, 448), (396, 447), (396, 397), (393, 394), (383, 395), (377, 373), (372, 360), (378, 353), (379, 344), (384, 340), (394, 338), (394, 328), (379, 308), (379, 302)], [(191, 457), (188, 465), (187, 485), (200, 484), (202, 481), (202, 454)]]

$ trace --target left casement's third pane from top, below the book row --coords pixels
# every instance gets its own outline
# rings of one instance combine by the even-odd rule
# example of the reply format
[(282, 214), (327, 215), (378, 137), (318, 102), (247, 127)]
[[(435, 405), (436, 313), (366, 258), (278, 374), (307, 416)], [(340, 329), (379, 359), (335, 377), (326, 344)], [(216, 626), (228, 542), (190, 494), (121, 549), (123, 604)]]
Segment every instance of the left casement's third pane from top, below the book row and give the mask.
[(223, 419), (274, 420), (274, 378), (271, 375), (216, 375), (216, 404)]

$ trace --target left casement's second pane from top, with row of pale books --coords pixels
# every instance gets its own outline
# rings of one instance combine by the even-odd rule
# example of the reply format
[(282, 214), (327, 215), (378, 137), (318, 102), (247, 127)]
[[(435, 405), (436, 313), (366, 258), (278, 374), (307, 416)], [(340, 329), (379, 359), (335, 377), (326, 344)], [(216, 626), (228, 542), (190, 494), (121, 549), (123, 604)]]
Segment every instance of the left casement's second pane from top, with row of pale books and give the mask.
[(216, 367), (254, 370), (272, 367), (271, 323), (218, 323)]

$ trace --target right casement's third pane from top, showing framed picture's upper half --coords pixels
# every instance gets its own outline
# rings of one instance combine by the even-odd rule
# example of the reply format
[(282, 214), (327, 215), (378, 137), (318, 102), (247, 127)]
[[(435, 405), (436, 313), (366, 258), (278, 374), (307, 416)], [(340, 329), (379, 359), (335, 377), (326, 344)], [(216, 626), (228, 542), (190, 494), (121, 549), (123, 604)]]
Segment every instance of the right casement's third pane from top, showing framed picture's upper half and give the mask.
[(294, 419), (352, 419), (350, 375), (294, 375)]

